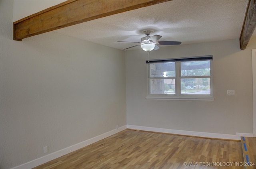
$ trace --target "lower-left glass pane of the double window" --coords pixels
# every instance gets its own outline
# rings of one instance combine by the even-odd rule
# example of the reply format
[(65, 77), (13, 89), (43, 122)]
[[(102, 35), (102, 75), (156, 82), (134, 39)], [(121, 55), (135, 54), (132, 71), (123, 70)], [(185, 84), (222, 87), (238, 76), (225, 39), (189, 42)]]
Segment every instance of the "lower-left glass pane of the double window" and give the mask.
[(175, 79), (150, 79), (150, 94), (175, 94)]

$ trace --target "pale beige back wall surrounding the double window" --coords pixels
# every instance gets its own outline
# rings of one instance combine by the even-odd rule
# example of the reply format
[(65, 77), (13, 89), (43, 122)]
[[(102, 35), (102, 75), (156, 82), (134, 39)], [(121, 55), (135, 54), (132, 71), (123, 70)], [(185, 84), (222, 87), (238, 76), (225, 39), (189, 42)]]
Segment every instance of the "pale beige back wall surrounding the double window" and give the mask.
[[(126, 51), (127, 124), (217, 134), (252, 134), (252, 38), (245, 50), (239, 40), (163, 47), (150, 59), (213, 55), (214, 101), (146, 100), (147, 52)], [(227, 95), (227, 90), (235, 95)]]

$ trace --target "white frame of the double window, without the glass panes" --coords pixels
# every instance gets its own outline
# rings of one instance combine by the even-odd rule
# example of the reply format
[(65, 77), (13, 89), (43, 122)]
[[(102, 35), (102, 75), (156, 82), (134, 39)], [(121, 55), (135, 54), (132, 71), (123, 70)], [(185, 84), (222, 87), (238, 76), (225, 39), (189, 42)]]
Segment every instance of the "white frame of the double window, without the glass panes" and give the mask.
[[(181, 62), (183, 61), (202, 61), (210, 60), (210, 76), (181, 76)], [(154, 78), (150, 77), (150, 63), (167, 63), (175, 62), (176, 77), (166, 77), (166, 78)], [(148, 66), (148, 95), (146, 99), (149, 100), (202, 100), (202, 101), (213, 101), (213, 83), (212, 83), (212, 55), (200, 56), (200, 57), (189, 57), (189, 58), (177, 58), (177, 59), (161, 59), (161, 60), (148, 60), (146, 61)], [(210, 94), (181, 94), (181, 79), (185, 78), (210, 78)], [(151, 79), (175, 79), (175, 94), (150, 94), (150, 80)]]

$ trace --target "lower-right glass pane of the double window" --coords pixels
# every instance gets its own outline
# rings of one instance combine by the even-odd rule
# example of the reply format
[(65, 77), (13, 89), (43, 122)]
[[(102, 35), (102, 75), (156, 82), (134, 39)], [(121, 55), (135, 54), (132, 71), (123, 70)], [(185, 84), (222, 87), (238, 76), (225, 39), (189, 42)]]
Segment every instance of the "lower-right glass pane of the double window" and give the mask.
[(180, 79), (181, 94), (211, 94), (210, 78)]

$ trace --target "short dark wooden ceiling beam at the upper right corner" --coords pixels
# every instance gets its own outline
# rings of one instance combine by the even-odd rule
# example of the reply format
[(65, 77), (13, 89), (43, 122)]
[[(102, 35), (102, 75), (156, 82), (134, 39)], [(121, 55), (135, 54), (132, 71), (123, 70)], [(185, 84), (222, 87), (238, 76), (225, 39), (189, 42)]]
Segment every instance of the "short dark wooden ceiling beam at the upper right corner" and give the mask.
[(240, 49), (246, 49), (246, 46), (252, 37), (256, 28), (256, 0), (249, 0), (247, 4), (244, 24), (240, 34)]

